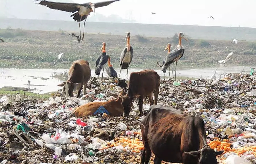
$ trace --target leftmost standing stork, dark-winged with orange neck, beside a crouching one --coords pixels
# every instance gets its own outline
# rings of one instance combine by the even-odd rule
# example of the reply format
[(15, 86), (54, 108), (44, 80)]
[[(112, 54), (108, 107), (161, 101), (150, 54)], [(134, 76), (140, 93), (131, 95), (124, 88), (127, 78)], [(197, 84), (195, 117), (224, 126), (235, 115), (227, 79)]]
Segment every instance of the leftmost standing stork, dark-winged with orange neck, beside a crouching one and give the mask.
[(95, 64), (95, 74), (98, 75), (98, 77), (100, 76), (100, 71), (102, 70), (103, 68), (103, 71), (102, 71), (102, 78), (103, 78), (103, 72), (104, 72), (104, 66), (106, 65), (106, 63), (108, 62), (108, 55), (106, 54), (106, 43), (103, 42), (102, 43), (102, 47), (101, 47), (101, 55), (98, 57), (98, 59), (96, 60)]

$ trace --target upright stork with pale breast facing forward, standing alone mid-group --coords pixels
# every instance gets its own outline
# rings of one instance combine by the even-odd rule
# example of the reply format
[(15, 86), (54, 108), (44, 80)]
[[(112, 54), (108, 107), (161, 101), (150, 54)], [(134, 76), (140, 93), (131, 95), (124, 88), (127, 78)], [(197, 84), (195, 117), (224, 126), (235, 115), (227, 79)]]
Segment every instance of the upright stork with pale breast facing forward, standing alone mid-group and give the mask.
[(129, 65), (130, 65), (130, 63), (133, 59), (133, 47), (130, 45), (130, 37), (131, 37), (131, 33), (127, 32), (126, 37), (125, 37), (125, 42), (127, 41), (127, 47), (125, 47), (123, 49), (123, 51), (121, 53), (121, 56), (120, 56), (121, 70), (120, 70), (120, 73), (119, 73), (119, 76), (118, 76), (118, 77), (120, 77), (122, 69), (127, 69), (126, 79), (128, 79), (128, 68), (129, 68)]

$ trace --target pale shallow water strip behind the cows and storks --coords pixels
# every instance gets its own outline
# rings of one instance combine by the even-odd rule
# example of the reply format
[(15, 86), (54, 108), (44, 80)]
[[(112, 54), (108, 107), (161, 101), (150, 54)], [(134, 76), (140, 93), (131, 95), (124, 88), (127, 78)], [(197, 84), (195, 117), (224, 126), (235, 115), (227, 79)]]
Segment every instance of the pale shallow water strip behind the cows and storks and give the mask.
[[(195, 68), (195, 69), (181, 69), (177, 70), (177, 76), (190, 77), (190, 78), (199, 78), (202, 74), (203, 78), (210, 78), (213, 74), (213, 71), (216, 68)], [(120, 69), (115, 69), (117, 75), (119, 75)], [(128, 77), (131, 72), (141, 71), (143, 69), (129, 69)], [(243, 70), (243, 66), (226, 66), (218, 67), (216, 71), (216, 76), (220, 73), (240, 73)], [(57, 91), (61, 87), (57, 85), (63, 82), (58, 78), (51, 77), (53, 73), (63, 73), (68, 71), (68, 69), (0, 69), (0, 88), (4, 86), (13, 86), (13, 87), (24, 87), (28, 88), (28, 80), (30, 80), (30, 89), (36, 88), (33, 90), (34, 93), (47, 93), (51, 91)], [(164, 73), (161, 70), (155, 70), (161, 78), (164, 77)], [(250, 67), (246, 66), (243, 73), (249, 73)], [(170, 70), (170, 74), (172, 71)], [(101, 74), (100, 74), (101, 75)], [(92, 70), (92, 76), (95, 76), (94, 69)], [(108, 77), (105, 69), (103, 76)], [(166, 72), (166, 78), (168, 78), (168, 71)], [(100, 76), (101, 77), (101, 76)], [(122, 70), (121, 78), (126, 78), (126, 70)]]

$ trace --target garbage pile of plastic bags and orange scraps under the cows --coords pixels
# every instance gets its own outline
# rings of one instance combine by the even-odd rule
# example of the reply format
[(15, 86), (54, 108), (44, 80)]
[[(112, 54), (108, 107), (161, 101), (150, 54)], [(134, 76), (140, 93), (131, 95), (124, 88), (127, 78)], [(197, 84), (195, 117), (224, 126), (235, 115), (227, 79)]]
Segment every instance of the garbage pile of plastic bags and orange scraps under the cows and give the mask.
[[(65, 98), (63, 90), (48, 101), (3, 96), (0, 163), (140, 163), (144, 147), (137, 100), (130, 118), (72, 115), (78, 106), (114, 99), (120, 91), (114, 79), (92, 78), (80, 98)], [(219, 163), (256, 163), (256, 75), (162, 81), (158, 104), (203, 118), (209, 146), (225, 150)], [(145, 99), (144, 114), (148, 108)]]

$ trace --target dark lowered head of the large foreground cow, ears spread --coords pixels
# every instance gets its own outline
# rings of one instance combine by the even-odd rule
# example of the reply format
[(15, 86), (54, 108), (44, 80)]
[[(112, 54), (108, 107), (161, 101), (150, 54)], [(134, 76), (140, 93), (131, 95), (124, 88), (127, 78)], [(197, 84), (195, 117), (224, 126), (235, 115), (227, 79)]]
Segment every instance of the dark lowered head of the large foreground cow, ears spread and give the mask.
[(216, 149), (211, 149), (210, 146), (205, 145), (201, 150), (185, 152), (185, 154), (199, 157), (199, 164), (217, 164), (218, 161), (216, 156), (222, 154), (223, 152), (224, 150), (216, 151)]

